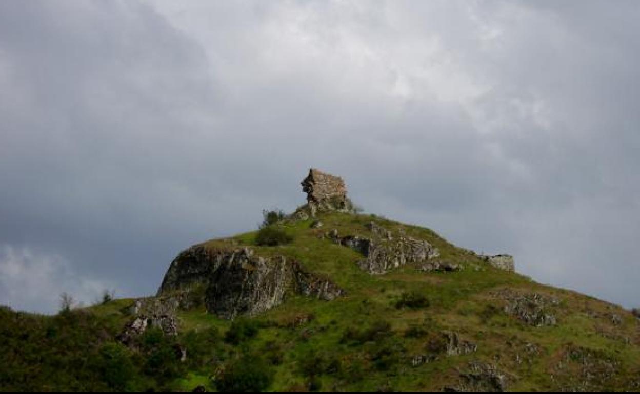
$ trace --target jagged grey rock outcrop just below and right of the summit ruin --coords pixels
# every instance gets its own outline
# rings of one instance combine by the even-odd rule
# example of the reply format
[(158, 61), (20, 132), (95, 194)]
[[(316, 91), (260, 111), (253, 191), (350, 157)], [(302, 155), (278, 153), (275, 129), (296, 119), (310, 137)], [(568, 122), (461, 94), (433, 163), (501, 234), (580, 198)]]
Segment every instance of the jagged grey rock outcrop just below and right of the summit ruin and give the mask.
[(425, 262), (440, 255), (438, 249), (427, 241), (403, 235), (395, 240), (385, 236), (382, 240), (359, 235), (339, 236), (338, 231), (334, 229), (327, 233), (327, 237), (334, 243), (364, 255), (366, 259), (358, 261), (358, 266), (372, 275), (382, 275), (389, 269), (404, 264)]

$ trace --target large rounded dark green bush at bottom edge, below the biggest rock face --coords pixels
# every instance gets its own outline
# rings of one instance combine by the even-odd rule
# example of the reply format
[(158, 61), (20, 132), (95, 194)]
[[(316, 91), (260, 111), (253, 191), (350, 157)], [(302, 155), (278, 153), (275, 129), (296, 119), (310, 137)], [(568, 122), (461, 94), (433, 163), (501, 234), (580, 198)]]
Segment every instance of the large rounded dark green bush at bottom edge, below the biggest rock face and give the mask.
[(258, 357), (244, 356), (227, 367), (216, 388), (223, 393), (256, 393), (273, 381), (273, 368)]

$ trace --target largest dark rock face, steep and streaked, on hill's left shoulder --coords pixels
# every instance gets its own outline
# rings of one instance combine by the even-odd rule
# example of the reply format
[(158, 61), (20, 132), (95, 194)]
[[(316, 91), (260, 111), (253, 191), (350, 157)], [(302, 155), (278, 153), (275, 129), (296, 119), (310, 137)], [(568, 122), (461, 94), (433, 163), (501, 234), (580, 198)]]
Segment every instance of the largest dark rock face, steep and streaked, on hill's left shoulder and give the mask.
[(158, 294), (204, 289), (209, 312), (223, 319), (256, 315), (284, 302), (288, 292), (331, 300), (345, 292), (285, 257), (263, 258), (253, 250), (204, 250), (193, 246), (172, 262)]

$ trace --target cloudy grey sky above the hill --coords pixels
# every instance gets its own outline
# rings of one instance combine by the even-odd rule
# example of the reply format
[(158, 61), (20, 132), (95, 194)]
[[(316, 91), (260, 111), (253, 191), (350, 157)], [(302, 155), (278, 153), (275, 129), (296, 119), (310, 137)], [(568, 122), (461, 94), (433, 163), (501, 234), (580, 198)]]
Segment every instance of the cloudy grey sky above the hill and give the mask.
[(637, 1), (0, 2), (0, 304), (154, 294), (305, 202), (640, 307)]

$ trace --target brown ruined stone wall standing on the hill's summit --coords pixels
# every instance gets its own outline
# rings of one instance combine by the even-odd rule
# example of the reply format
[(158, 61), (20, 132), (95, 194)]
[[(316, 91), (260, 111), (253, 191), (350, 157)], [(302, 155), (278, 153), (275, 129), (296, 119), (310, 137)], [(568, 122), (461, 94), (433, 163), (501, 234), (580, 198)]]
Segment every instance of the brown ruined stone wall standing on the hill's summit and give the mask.
[(339, 176), (310, 169), (301, 185), (307, 193), (307, 204), (314, 211), (317, 208), (348, 210), (351, 206), (347, 198), (347, 186)]

